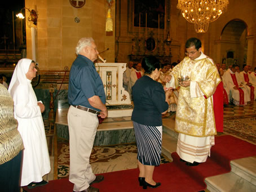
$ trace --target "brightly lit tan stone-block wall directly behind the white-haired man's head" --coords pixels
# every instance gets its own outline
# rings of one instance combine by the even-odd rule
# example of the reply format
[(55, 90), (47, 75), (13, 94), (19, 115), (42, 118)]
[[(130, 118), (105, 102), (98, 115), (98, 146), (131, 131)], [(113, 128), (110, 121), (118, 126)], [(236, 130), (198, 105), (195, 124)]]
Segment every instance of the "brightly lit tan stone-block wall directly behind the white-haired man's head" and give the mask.
[[(38, 14), (37, 26), (26, 22), (27, 57), (32, 58), (31, 28), (36, 27), (36, 61), (41, 70), (64, 70), (65, 66), (70, 69), (76, 59), (74, 48), (82, 37), (94, 38), (99, 52), (109, 48), (101, 56), (114, 62), (115, 33), (112, 36), (105, 33), (106, 1), (87, 0), (85, 6), (74, 8), (68, 0), (25, 0), (25, 6)], [(115, 4), (111, 10), (114, 24)], [(80, 18), (79, 23), (74, 21), (76, 17)]]

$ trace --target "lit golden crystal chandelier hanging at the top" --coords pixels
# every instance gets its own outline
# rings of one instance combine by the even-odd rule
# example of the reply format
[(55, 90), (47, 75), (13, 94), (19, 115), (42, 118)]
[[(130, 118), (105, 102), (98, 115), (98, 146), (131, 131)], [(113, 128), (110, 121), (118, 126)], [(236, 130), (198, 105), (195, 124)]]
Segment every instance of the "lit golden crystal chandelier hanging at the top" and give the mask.
[(194, 24), (196, 33), (205, 33), (209, 23), (217, 20), (227, 5), (228, 0), (179, 0), (177, 8)]

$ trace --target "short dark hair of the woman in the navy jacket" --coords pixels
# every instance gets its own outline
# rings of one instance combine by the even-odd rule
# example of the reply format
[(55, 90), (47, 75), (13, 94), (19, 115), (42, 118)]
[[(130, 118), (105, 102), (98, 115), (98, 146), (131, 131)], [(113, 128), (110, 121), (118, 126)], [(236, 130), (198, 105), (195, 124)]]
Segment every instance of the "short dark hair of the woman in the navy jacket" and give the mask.
[(155, 56), (147, 56), (142, 60), (142, 67), (145, 74), (151, 74), (155, 69), (160, 69), (160, 61)]

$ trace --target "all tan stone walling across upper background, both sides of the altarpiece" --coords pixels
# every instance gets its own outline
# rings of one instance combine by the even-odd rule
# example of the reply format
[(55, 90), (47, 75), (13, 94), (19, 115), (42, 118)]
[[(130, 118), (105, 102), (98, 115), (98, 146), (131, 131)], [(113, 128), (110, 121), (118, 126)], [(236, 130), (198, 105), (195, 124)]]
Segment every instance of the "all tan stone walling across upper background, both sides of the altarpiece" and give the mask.
[[(67, 0), (39, 1), (25, 0), (25, 6), (34, 9), (38, 14), (38, 24), (34, 26), (27, 21), (27, 55), (32, 58), (31, 27), (37, 28), (36, 36), (36, 60), (42, 70), (63, 70), (64, 66), (70, 68), (76, 58), (74, 48), (81, 37), (93, 37), (98, 50), (108, 51), (102, 53), (102, 57), (108, 62), (127, 62), (131, 53), (132, 37), (132, 12), (133, 0), (113, 1), (112, 18), (114, 25), (113, 36), (105, 34), (105, 20), (107, 15), (107, 2), (101, 0), (87, 0), (82, 8), (74, 8)], [(193, 24), (188, 23), (177, 10), (178, 0), (166, 1), (167, 14), (171, 20), (171, 61), (184, 58), (186, 40), (190, 37), (200, 38), (202, 50), (215, 62), (222, 62), (222, 56), (226, 51), (233, 49), (233, 44), (227, 42), (218, 44), (222, 40), (222, 31), (227, 23), (234, 19), (244, 21), (247, 29), (248, 64), (256, 65), (256, 1), (229, 0), (227, 11), (213, 23), (210, 23), (208, 32), (195, 33)], [(28, 14), (28, 12), (26, 12)], [(26, 15), (28, 17), (28, 15)], [(74, 22), (79, 17), (80, 23)], [(135, 35), (138, 35), (138, 27), (135, 27)], [(141, 29), (144, 33), (144, 28)], [(157, 29), (151, 29), (155, 36)], [(164, 30), (160, 30), (163, 35)], [(222, 44), (224, 47), (222, 47)], [(241, 46), (236, 47), (239, 51)], [(239, 54), (239, 53), (237, 53)], [(240, 53), (240, 56), (241, 53)], [(241, 62), (241, 59), (239, 59)]]

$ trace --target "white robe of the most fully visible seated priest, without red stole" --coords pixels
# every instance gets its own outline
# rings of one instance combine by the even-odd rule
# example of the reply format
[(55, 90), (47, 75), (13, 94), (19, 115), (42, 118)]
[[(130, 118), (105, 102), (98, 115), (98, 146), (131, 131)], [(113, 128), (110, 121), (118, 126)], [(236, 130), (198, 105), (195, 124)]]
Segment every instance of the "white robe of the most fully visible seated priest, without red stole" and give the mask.
[[(222, 81), (223, 81), (224, 86), (228, 87), (229, 96), (231, 96), (233, 98), (234, 104), (239, 105), (239, 101), (240, 101), (239, 91), (235, 90), (233, 88), (233, 87), (235, 87), (235, 84), (233, 83), (231, 74), (235, 74), (236, 81), (237, 81), (238, 85), (240, 86), (240, 84), (242, 84), (242, 81), (240, 79), (239, 73), (233, 73), (232, 70), (230, 70), (230, 69), (228, 69), (227, 72), (225, 72), (223, 74)], [(242, 89), (242, 91), (244, 91), (244, 103), (245, 103), (244, 105), (246, 105), (247, 102), (250, 101), (249, 90), (244, 85), (242, 85), (240, 88)]]

